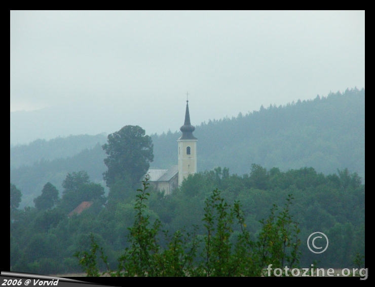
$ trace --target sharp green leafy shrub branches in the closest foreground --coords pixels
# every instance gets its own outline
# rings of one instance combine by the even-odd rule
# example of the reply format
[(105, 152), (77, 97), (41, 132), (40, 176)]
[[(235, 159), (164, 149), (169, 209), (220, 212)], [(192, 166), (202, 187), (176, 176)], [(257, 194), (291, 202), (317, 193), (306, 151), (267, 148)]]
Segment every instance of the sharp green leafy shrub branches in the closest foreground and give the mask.
[[(128, 228), (130, 246), (118, 259), (118, 270), (109, 270), (102, 248), (93, 236), (90, 252), (75, 254), (88, 276), (100, 276), (97, 250), (107, 267), (102, 275), (110, 276), (261, 276), (269, 264), (278, 268), (284, 264), (298, 265), (301, 242), (298, 225), (289, 213), (291, 195), (280, 212), (277, 213), (278, 207), (273, 205), (270, 216), (260, 221), (262, 228), (257, 241), (252, 241), (240, 203), (236, 201), (232, 207), (215, 189), (205, 201), (202, 219), (205, 235), (196, 234), (198, 227), (193, 234), (176, 231), (170, 238), (168, 231), (163, 231), (167, 244), (162, 248), (157, 240), (161, 222), (155, 219), (151, 224), (146, 205), (148, 179), (146, 176), (143, 188), (137, 189), (135, 220)], [(236, 230), (234, 224), (240, 228)]]

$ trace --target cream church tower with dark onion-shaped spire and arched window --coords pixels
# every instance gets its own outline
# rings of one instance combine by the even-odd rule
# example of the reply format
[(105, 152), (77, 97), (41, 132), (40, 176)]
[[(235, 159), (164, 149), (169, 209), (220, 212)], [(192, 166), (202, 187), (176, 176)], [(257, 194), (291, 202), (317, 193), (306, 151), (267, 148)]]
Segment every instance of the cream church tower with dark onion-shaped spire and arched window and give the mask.
[(182, 136), (178, 143), (178, 185), (189, 174), (197, 172), (197, 141), (193, 136), (195, 127), (190, 123), (189, 101), (186, 100), (185, 122), (180, 127)]

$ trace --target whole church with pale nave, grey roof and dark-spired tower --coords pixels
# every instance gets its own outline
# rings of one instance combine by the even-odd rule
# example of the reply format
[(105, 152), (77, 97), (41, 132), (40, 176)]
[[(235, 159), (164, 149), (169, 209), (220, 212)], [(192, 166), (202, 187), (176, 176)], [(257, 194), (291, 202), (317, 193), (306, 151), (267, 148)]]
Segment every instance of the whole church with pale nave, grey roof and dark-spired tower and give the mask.
[(177, 166), (169, 169), (149, 169), (149, 183), (155, 189), (170, 195), (181, 185), (184, 178), (197, 172), (197, 141), (193, 136), (195, 127), (190, 123), (189, 101), (186, 100), (185, 121), (180, 127), (182, 135), (177, 139)]

